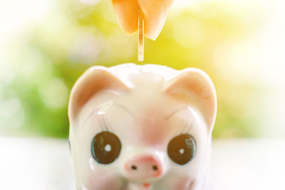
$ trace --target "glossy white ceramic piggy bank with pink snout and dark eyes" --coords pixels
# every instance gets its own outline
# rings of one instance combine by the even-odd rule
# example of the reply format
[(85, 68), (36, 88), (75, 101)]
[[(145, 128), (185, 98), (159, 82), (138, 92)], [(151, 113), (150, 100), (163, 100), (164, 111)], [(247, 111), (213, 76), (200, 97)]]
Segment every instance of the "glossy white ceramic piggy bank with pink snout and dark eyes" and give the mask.
[(90, 68), (68, 110), (77, 189), (202, 189), (216, 110), (202, 70)]

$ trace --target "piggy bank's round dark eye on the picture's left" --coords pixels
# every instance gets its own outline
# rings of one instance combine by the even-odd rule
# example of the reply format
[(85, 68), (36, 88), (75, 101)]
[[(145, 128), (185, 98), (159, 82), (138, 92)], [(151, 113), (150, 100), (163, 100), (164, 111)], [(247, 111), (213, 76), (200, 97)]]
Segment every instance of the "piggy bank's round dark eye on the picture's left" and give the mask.
[(100, 132), (95, 135), (91, 148), (96, 162), (110, 164), (120, 155), (120, 139), (112, 132)]

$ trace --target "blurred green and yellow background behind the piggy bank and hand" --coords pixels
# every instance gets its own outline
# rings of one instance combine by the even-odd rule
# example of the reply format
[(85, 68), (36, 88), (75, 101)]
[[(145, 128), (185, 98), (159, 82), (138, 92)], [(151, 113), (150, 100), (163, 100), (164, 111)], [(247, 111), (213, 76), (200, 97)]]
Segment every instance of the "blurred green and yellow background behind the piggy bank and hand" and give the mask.
[(0, 2), (1, 136), (68, 137), (67, 103), (92, 65), (200, 68), (217, 89), (214, 137), (285, 137), (284, 3), (175, 1), (156, 41), (123, 33), (110, 1)]

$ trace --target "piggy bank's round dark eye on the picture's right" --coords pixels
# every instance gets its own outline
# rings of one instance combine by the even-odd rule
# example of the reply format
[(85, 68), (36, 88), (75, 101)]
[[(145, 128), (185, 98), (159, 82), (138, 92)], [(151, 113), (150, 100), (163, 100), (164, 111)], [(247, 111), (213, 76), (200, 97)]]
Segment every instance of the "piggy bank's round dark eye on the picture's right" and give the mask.
[(173, 162), (183, 165), (194, 157), (195, 149), (195, 139), (190, 134), (180, 134), (168, 143), (167, 154)]

